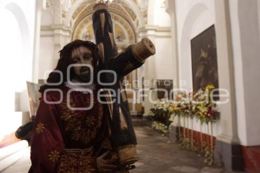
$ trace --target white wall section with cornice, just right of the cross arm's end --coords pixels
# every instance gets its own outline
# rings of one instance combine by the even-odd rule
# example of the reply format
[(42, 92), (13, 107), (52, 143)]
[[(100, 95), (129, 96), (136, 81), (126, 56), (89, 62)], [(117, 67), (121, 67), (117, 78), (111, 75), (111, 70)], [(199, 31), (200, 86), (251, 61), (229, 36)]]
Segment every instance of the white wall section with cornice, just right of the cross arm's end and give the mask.
[[(173, 53), (171, 43), (171, 19), (163, 0), (150, 0), (148, 4), (148, 35), (154, 36), (156, 54), (154, 71), (156, 79), (173, 79)], [(152, 28), (152, 29), (150, 29)], [(167, 70), (166, 70), (167, 69)], [(138, 73), (139, 81), (144, 73)], [(154, 79), (155, 80), (155, 79)], [(141, 88), (142, 86), (140, 86)]]

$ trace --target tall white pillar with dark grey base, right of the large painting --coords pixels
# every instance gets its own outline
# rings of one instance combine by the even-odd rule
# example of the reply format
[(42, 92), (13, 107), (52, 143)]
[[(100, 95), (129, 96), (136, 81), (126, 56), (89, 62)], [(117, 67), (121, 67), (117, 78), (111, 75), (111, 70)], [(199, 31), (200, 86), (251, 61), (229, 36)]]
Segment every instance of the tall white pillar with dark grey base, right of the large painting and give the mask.
[(226, 0), (214, 2), (219, 88), (225, 89), (229, 93), (229, 97), (220, 96), (220, 101), (228, 99), (228, 102), (220, 105), (221, 134), (217, 136), (215, 160), (218, 162), (221, 159), (221, 163), (227, 170), (242, 171), (243, 157), (237, 132), (234, 55), (229, 2)]

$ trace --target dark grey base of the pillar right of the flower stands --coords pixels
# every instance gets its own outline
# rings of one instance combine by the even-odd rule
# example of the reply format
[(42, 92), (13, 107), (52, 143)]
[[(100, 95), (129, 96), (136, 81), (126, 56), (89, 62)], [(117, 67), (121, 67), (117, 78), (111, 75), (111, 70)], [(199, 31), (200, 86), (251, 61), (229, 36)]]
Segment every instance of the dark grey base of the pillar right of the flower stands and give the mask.
[(239, 144), (216, 141), (215, 163), (228, 171), (243, 171), (242, 148)]

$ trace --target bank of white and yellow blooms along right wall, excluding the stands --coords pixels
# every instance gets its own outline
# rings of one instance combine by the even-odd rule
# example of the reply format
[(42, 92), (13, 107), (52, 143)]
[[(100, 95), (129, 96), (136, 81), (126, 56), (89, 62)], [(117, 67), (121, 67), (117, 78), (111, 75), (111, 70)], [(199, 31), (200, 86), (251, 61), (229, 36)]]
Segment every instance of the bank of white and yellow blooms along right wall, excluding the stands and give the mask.
[(152, 127), (167, 133), (174, 116), (195, 117), (201, 120), (202, 124), (219, 119), (220, 112), (217, 104), (210, 99), (214, 88), (209, 84), (204, 90), (195, 93), (180, 92), (175, 102), (167, 99), (158, 100), (148, 113), (148, 118), (154, 122)]

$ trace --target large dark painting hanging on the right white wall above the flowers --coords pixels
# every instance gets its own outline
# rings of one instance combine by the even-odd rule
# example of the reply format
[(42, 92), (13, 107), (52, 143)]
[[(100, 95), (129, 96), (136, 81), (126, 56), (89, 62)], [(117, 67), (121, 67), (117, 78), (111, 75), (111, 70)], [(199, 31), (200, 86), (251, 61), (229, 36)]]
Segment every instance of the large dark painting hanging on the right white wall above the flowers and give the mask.
[(218, 88), (214, 25), (191, 40), (191, 60), (193, 90), (204, 89), (208, 84), (213, 84), (215, 88)]

